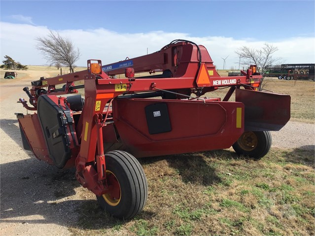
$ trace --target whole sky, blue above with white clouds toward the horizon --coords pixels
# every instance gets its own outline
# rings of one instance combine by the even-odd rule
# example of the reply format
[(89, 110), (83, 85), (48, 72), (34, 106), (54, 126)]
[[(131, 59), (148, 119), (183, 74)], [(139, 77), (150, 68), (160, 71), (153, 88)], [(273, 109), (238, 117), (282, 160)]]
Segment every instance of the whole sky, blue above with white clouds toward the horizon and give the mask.
[[(141, 56), (173, 39), (207, 47), (214, 64), (235, 67), (237, 48), (272, 43), (283, 63), (315, 62), (315, 3), (309, 1), (0, 1), (1, 60), (44, 65), (35, 38), (48, 29), (70, 36), (90, 58), (105, 63)], [(31, 34), (33, 33), (33, 34)], [(13, 44), (14, 43), (14, 44)], [(14, 46), (15, 45), (15, 46)], [(28, 54), (28, 56), (26, 56)], [(90, 57), (90, 58), (86, 58)]]

